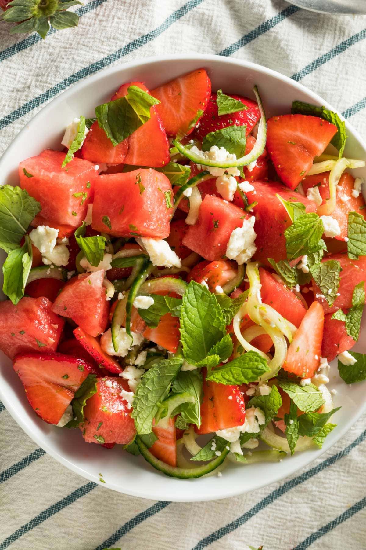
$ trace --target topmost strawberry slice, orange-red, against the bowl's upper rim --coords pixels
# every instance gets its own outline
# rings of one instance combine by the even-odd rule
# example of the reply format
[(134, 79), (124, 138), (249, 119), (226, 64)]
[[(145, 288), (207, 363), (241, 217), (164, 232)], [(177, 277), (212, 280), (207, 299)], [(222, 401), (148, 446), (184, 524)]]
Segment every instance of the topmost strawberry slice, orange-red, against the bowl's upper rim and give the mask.
[(156, 106), (168, 136), (190, 134), (201, 118), (211, 94), (205, 69), (178, 76), (151, 91), (160, 101)]

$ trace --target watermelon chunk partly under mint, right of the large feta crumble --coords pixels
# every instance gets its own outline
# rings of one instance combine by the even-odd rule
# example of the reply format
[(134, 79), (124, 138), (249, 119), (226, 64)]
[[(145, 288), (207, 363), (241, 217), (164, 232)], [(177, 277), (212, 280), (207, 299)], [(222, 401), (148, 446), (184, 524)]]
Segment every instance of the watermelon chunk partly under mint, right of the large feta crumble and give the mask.
[[(315, 212), (316, 205), (309, 201), (300, 193), (289, 191), (284, 185), (277, 182), (251, 182), (254, 191), (246, 192), (249, 202), (257, 201), (254, 207), (256, 222), (254, 230), (257, 234), (255, 244), (257, 251), (254, 258), (264, 265), (270, 266), (268, 258), (273, 258), (276, 262), (286, 260), (286, 239), (285, 229), (291, 225), (291, 220), (284, 206), (275, 196), (277, 193), (286, 201), (302, 202), (305, 205), (306, 212)], [(234, 203), (243, 207), (243, 200), (236, 194)]]

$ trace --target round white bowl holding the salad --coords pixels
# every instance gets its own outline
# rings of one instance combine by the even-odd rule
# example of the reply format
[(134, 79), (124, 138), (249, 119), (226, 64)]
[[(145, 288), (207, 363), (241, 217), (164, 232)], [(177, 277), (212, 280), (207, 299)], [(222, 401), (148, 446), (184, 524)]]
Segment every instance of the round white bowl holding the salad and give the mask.
[[(118, 87), (132, 80), (143, 80), (150, 89), (175, 76), (204, 67), (209, 72), (212, 89), (253, 97), (252, 87), (258, 85), (267, 116), (289, 113), (292, 100), (315, 105), (328, 103), (301, 84), (254, 63), (218, 56), (165, 56), (126, 63), (82, 80), (51, 101), (21, 130), (0, 160), (2, 184), (18, 184), (18, 163), (38, 155), (46, 147), (60, 149), (65, 125), (75, 116), (94, 116), (94, 107), (109, 98)], [(333, 109), (335, 110), (335, 109)], [(345, 156), (366, 158), (366, 145), (347, 124)], [(354, 171), (366, 177), (365, 169)], [(57, 200), (57, 197), (56, 197)], [(0, 263), (4, 260), (4, 253)], [(366, 352), (366, 329), (362, 331), (355, 350)], [(335, 415), (338, 426), (325, 439), (322, 450), (295, 453), (281, 463), (250, 466), (229, 465), (222, 477), (216, 475), (197, 480), (178, 480), (154, 470), (140, 456), (128, 455), (122, 448), (112, 450), (83, 441), (79, 430), (62, 430), (43, 422), (31, 409), (24, 387), (12, 368), (12, 362), (1, 354), (0, 399), (22, 429), (47, 453), (72, 471), (99, 483), (102, 472), (105, 484), (115, 491), (150, 499), (189, 502), (234, 496), (278, 481), (316, 459), (329, 449), (366, 410), (366, 381), (351, 388), (340, 380), (337, 367), (331, 368), (330, 387), (337, 389), (335, 405), (342, 409)]]

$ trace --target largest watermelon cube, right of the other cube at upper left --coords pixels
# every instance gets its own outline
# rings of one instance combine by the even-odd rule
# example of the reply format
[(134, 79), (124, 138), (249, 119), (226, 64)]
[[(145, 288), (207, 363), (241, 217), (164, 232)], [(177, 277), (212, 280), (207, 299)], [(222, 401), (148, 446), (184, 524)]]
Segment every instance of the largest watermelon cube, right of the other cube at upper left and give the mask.
[(173, 200), (170, 181), (152, 168), (99, 176), (92, 227), (116, 237), (164, 239), (170, 233), (173, 212), (167, 207), (169, 200)]

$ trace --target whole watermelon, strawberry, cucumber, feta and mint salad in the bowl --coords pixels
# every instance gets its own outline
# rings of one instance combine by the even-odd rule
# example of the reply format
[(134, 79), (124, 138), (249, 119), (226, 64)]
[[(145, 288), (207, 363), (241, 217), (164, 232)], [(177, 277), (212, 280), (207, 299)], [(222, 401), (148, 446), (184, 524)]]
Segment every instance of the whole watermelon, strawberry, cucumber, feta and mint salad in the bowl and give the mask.
[(365, 163), (336, 113), (249, 95), (205, 69), (123, 84), (0, 188), (0, 350), (30, 406), (178, 478), (322, 447), (330, 362), (366, 378)]

